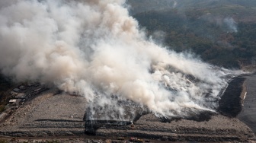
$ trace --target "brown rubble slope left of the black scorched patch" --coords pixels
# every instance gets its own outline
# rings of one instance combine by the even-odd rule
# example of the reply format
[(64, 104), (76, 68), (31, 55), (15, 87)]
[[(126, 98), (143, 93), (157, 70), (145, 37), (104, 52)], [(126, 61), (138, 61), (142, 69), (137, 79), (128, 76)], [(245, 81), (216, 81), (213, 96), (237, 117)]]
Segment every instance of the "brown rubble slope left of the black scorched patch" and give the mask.
[(5, 122), (0, 134), (8, 136), (84, 135), (85, 98), (46, 91), (21, 105)]

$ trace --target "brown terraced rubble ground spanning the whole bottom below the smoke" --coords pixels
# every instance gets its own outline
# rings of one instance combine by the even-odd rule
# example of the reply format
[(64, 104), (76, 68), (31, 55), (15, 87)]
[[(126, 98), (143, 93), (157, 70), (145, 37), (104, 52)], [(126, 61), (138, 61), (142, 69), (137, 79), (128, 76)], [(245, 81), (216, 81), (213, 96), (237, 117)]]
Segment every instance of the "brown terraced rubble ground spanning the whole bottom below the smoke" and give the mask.
[[(39, 91), (37, 91), (40, 89)], [(159, 119), (151, 113), (142, 115), (130, 123), (100, 125), (94, 135), (85, 135), (86, 102), (84, 97), (65, 94), (43, 85), (24, 87), (18, 91), (27, 97), (18, 105), (11, 106), (8, 116), (2, 119), (0, 135), (17, 138), (55, 138), (82, 136), (77, 142), (94, 142), (85, 138), (102, 138), (102, 142), (124, 137), (152, 139), (150, 141), (251, 141), (254, 133), (234, 117), (210, 113), (205, 119)], [(15, 108), (14, 108), (15, 107)], [(202, 113), (202, 115), (209, 113)], [(204, 116), (202, 116), (204, 118)], [(96, 122), (97, 123), (97, 122)], [(107, 125), (107, 124), (106, 124)], [(144, 139), (145, 140), (145, 139)], [(11, 140), (9, 140), (11, 141)], [(14, 141), (17, 141), (14, 139)], [(46, 139), (44, 140), (46, 141)], [(63, 140), (64, 142), (75, 142)], [(98, 140), (99, 141), (99, 140)], [(120, 141), (122, 142), (122, 141)]]

